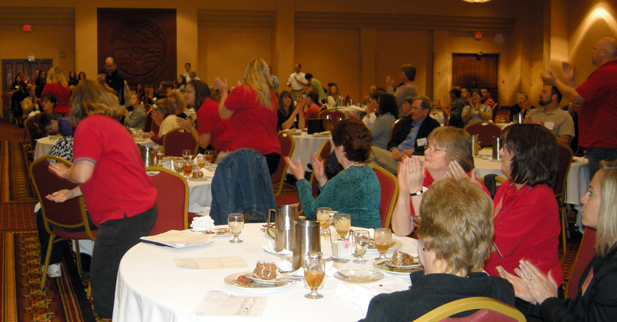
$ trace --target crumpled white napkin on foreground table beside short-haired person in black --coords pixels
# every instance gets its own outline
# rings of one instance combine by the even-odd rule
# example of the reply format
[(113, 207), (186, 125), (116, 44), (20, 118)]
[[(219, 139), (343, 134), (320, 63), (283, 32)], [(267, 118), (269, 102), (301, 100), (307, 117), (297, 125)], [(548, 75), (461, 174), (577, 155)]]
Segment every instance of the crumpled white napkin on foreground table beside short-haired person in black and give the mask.
[(409, 289), (409, 284), (405, 283), (400, 278), (392, 280), (384, 279), (380, 280), (378, 283), (379, 284), (375, 286), (340, 283), (335, 293), (341, 299), (349, 301), (364, 310), (368, 310), (370, 301), (375, 295)]

